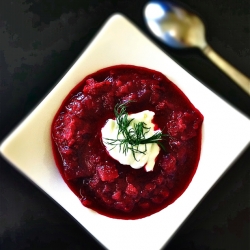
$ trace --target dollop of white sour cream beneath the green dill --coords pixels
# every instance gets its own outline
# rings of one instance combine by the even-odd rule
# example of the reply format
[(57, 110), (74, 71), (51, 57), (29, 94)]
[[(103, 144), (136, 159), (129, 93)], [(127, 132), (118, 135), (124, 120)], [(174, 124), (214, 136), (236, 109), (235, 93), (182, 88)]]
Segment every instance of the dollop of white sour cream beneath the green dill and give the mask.
[[(152, 119), (155, 113), (149, 110), (144, 110), (139, 113), (128, 115), (128, 119), (133, 119), (128, 127), (134, 127), (135, 123), (144, 122), (147, 128), (150, 128), (148, 133), (145, 134), (145, 138), (149, 138), (153, 136), (156, 132), (160, 130), (154, 130), (154, 124), (152, 123)], [(155, 158), (160, 152), (160, 147), (157, 143), (148, 143), (148, 144), (140, 144), (139, 151), (145, 151), (144, 153), (135, 152), (135, 157), (131, 150), (128, 150), (126, 154), (123, 152), (123, 146), (110, 145), (108, 140), (105, 139), (124, 139), (124, 136), (120, 133), (118, 135), (119, 126), (116, 120), (109, 119), (107, 123), (102, 128), (102, 141), (106, 147), (106, 150), (109, 152), (109, 155), (113, 157), (115, 160), (119, 161), (123, 165), (130, 165), (134, 169), (139, 169), (145, 166), (145, 170), (147, 172), (153, 171), (155, 165)], [(118, 137), (117, 137), (118, 135)], [(146, 150), (145, 150), (146, 146)]]

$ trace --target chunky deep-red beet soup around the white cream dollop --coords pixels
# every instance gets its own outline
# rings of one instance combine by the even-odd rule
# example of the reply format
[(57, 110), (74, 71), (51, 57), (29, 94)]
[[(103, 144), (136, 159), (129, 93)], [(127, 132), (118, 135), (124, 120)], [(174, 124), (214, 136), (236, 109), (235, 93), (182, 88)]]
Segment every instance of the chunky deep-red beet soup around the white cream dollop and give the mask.
[[(185, 81), (185, 79), (183, 79)], [(117, 104), (129, 114), (153, 111), (168, 136), (153, 171), (113, 159), (101, 129)], [(65, 98), (52, 123), (56, 165), (81, 203), (108, 217), (139, 219), (173, 203), (191, 182), (200, 158), (203, 115), (162, 73), (118, 65), (85, 77)]]

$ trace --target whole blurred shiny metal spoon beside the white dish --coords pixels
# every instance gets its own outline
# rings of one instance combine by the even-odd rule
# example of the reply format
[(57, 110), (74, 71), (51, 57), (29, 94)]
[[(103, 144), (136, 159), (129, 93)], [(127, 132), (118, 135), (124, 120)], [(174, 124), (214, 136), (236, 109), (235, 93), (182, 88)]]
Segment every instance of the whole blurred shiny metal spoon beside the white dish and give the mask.
[(220, 57), (206, 42), (205, 27), (196, 15), (173, 3), (153, 1), (144, 9), (154, 35), (173, 48), (198, 47), (214, 64), (250, 95), (250, 79)]

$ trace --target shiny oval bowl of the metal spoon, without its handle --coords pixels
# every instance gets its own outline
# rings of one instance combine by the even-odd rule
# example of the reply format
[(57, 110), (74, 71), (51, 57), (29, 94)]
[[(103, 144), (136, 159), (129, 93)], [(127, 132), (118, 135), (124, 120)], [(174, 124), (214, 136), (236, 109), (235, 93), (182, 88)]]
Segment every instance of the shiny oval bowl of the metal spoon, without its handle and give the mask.
[(173, 48), (207, 46), (205, 27), (196, 15), (168, 2), (146, 5), (144, 16), (149, 29)]

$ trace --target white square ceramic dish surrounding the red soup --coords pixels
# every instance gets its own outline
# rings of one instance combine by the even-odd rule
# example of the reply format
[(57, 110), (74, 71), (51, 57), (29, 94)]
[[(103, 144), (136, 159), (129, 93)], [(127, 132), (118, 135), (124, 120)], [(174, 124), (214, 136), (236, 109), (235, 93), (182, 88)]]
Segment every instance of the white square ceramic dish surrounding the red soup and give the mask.
[[(200, 163), (191, 184), (172, 205), (141, 220), (110, 219), (83, 207), (55, 167), (48, 133), (54, 114), (73, 86), (89, 73), (116, 64), (140, 65), (164, 73), (205, 117)], [(216, 127), (218, 125), (220, 129)], [(0, 151), (108, 249), (152, 250), (165, 244), (245, 148), (250, 138), (249, 127), (245, 116), (208, 90), (152, 44), (130, 21), (117, 14), (108, 20), (41, 104), (6, 138)], [(26, 152), (29, 158), (20, 150), (20, 145), (29, 149)]]

